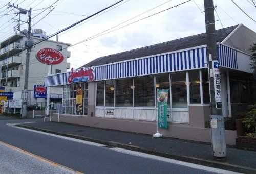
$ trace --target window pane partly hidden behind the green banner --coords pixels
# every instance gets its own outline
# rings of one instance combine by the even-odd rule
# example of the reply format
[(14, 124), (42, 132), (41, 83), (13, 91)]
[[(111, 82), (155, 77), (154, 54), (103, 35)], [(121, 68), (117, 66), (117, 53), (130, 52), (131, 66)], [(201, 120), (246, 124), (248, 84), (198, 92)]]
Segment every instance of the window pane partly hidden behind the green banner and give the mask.
[(168, 89), (167, 107), (170, 107), (170, 77), (169, 74), (159, 74), (156, 76), (156, 88)]

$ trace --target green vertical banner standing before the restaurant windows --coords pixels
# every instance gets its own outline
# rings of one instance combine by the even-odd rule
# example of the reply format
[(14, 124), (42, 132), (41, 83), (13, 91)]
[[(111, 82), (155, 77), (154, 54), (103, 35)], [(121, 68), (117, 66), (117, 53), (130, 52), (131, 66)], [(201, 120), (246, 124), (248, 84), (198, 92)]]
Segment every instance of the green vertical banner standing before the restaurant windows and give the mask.
[(168, 89), (157, 89), (158, 127), (167, 129)]

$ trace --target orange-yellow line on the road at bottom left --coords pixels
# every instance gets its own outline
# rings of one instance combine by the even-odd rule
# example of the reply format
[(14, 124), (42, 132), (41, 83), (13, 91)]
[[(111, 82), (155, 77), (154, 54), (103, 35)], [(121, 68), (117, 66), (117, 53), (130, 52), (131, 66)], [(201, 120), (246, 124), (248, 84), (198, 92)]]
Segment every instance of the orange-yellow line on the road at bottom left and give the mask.
[(0, 141), (0, 144), (3, 144), (3, 145), (5, 145), (5, 146), (7, 146), (7, 147), (10, 147), (10, 148), (13, 149), (13, 150), (16, 150), (16, 151), (18, 151), (18, 152), (20, 152), (20, 153), (22, 153), (22, 154), (24, 154), (24, 155), (30, 156), (30, 157), (32, 157), (32, 158), (34, 158), (34, 159), (37, 159), (37, 160), (41, 161), (41, 162), (45, 162), (45, 163), (47, 163), (47, 164), (50, 164), (50, 165), (52, 165), (52, 166), (54, 166), (54, 167), (62, 167), (62, 168), (66, 168), (67, 170), (74, 171), (75, 173), (81, 173), (81, 172), (79, 172), (79, 171), (73, 170), (72, 168), (69, 168), (69, 167), (60, 165), (60, 164), (58, 164), (58, 163), (56, 163), (56, 162), (53, 162), (53, 161), (51, 161), (51, 160), (48, 160), (48, 159), (39, 157), (39, 156), (37, 156), (37, 155), (35, 155), (35, 154), (32, 154), (32, 153), (30, 153), (30, 152), (28, 152), (28, 151), (22, 150), (21, 148), (15, 147), (15, 146), (10, 145), (10, 144), (7, 144), (7, 143), (5, 143), (5, 142), (3, 142), (3, 141)]

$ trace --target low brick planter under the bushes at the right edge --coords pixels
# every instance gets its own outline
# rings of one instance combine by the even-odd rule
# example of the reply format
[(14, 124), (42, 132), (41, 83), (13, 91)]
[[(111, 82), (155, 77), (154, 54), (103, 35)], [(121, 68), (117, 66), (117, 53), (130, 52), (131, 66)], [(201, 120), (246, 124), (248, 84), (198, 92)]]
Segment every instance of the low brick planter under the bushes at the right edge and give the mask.
[(256, 151), (256, 137), (238, 136), (236, 145), (240, 148)]

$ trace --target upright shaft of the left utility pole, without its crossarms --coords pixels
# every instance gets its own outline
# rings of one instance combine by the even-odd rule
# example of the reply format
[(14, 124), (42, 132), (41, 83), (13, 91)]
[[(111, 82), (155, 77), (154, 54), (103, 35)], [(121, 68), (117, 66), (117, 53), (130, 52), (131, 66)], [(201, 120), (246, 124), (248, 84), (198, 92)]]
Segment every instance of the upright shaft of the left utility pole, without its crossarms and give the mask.
[(27, 49), (27, 55), (26, 55), (26, 68), (25, 68), (25, 80), (24, 80), (24, 108), (22, 113), (22, 118), (25, 118), (27, 116), (27, 105), (28, 105), (28, 80), (29, 80), (29, 58), (30, 58), (30, 37), (31, 37), (31, 11), (32, 9), (29, 9), (29, 21), (28, 21), (28, 49)]

